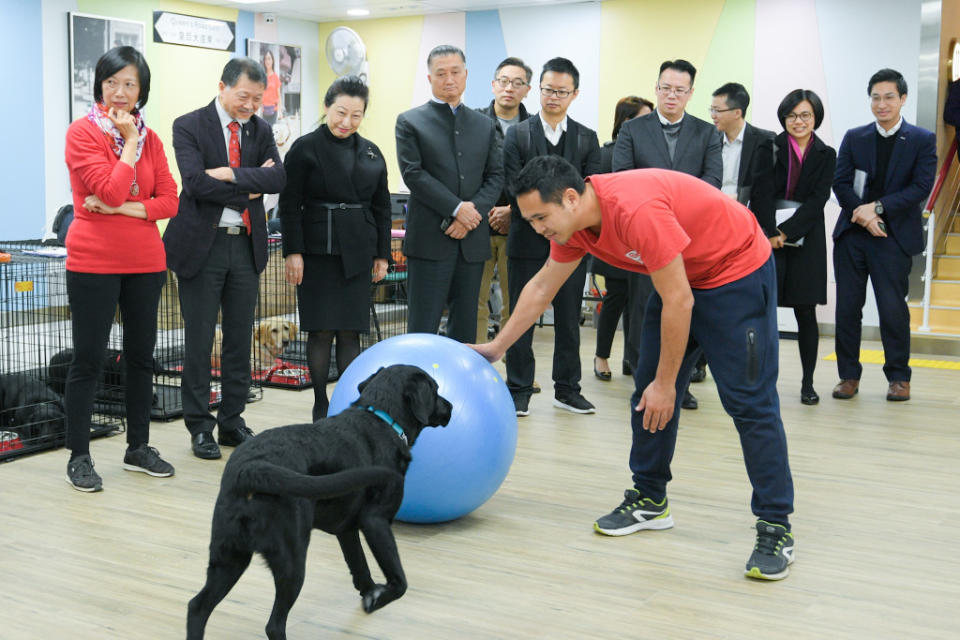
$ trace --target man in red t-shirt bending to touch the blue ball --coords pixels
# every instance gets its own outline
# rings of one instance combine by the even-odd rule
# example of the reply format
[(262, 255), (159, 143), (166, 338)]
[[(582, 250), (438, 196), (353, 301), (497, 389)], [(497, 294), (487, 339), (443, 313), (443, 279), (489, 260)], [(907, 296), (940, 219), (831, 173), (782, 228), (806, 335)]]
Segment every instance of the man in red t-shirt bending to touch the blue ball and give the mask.
[(634, 486), (594, 528), (620, 536), (673, 526), (666, 485), (679, 400), (698, 355), (687, 350), (693, 336), (714, 365), (753, 485), (757, 540), (746, 575), (785, 578), (793, 562), (793, 480), (776, 388), (776, 271), (753, 214), (682, 173), (637, 169), (585, 183), (556, 156), (528, 163), (515, 192), (524, 219), (551, 241), (551, 251), (497, 337), (474, 347), (491, 362), (539, 318), (586, 253), (653, 280), (631, 399)]

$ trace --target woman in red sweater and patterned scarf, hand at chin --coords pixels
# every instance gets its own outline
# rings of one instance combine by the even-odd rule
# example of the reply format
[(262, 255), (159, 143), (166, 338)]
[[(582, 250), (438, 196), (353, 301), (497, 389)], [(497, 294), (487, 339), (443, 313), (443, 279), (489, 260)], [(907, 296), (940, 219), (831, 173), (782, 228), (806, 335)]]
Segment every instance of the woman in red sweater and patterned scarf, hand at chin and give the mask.
[(150, 69), (133, 47), (100, 58), (95, 103), (67, 130), (74, 221), (67, 233), (73, 362), (67, 376), (67, 482), (100, 491), (90, 458), (90, 416), (117, 305), (123, 321), (127, 452), (123, 468), (151, 476), (173, 466), (148, 445), (153, 347), (166, 256), (156, 221), (177, 213), (177, 186), (163, 145), (143, 121)]

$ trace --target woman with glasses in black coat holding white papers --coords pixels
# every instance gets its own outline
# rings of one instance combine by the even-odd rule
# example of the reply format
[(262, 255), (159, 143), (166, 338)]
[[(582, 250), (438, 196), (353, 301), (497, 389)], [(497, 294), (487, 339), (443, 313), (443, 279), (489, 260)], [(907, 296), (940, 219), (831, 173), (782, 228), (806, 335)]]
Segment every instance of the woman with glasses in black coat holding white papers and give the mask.
[[(827, 242), (823, 207), (830, 198), (837, 152), (816, 136), (823, 103), (813, 91), (791, 91), (777, 108), (785, 129), (757, 153), (773, 158), (754, 182), (751, 206), (770, 238), (777, 263), (777, 304), (792, 307), (803, 379), (800, 401), (817, 404), (813, 388), (820, 331), (816, 305), (827, 302)], [(762, 156), (761, 156), (762, 157)], [(791, 211), (793, 210), (793, 211)]]

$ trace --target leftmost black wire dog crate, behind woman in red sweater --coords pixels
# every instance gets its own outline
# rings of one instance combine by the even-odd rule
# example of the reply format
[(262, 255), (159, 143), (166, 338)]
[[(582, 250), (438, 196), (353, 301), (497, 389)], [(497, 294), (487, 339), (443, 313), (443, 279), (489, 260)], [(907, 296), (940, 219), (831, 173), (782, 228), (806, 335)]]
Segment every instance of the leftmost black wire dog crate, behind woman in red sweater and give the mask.
[[(9, 256), (0, 261), (0, 460), (6, 460), (64, 444), (63, 391), (73, 337), (62, 250), (0, 242), (0, 252)], [(110, 346), (120, 342), (114, 324)], [(122, 381), (105, 366), (92, 437), (124, 429), (123, 393)]]

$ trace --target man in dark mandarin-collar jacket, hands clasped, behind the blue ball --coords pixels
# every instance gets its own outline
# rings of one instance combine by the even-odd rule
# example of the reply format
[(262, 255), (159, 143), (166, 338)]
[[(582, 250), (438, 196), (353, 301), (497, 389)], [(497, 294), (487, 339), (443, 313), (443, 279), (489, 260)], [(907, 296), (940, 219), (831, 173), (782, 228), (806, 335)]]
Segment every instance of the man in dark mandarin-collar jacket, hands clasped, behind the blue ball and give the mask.
[(447, 336), (473, 342), (483, 263), (490, 257), (483, 214), (503, 187), (494, 123), (461, 101), (466, 57), (450, 45), (427, 56), (433, 98), (397, 116), (397, 161), (407, 202), (407, 331), (436, 333), (444, 305)]

